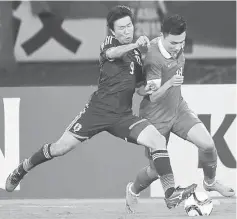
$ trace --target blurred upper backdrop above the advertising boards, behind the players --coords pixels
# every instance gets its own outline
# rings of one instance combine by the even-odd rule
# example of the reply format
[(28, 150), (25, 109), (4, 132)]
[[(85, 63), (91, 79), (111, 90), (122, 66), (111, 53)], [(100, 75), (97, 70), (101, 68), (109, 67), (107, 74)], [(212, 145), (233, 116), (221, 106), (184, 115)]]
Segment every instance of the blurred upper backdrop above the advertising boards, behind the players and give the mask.
[(135, 37), (158, 36), (166, 14), (186, 18), (186, 84), (236, 83), (235, 1), (1, 1), (0, 86), (96, 85), (116, 4), (133, 9)]

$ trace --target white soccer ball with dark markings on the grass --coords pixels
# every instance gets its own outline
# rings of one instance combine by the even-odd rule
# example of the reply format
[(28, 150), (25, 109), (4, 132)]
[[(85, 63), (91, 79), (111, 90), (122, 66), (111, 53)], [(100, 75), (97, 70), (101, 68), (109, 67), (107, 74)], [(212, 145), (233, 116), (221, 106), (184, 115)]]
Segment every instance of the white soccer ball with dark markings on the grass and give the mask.
[(185, 200), (184, 210), (190, 217), (208, 216), (213, 210), (213, 202), (205, 192), (194, 192)]

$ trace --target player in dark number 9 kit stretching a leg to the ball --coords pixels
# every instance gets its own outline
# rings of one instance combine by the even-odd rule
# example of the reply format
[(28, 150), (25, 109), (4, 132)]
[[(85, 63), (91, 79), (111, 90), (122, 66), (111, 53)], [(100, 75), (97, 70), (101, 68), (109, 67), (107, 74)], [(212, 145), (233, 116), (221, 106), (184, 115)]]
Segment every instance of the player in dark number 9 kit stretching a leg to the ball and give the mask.
[[(68, 153), (79, 143), (102, 131), (150, 148), (154, 168), (161, 182), (167, 184), (174, 181), (170, 178), (173, 172), (165, 137), (148, 120), (132, 113), (132, 97), (142, 74), (139, 48), (149, 46), (149, 39), (141, 36), (133, 42), (133, 16), (126, 6), (111, 9), (107, 23), (112, 35), (107, 36), (101, 45), (97, 91), (92, 94), (84, 110), (72, 121), (58, 141), (44, 145), (8, 176), (7, 191), (13, 191), (33, 167)], [(197, 184), (186, 188), (171, 186), (166, 191), (167, 205), (170, 208), (177, 206), (193, 193), (196, 186)]]

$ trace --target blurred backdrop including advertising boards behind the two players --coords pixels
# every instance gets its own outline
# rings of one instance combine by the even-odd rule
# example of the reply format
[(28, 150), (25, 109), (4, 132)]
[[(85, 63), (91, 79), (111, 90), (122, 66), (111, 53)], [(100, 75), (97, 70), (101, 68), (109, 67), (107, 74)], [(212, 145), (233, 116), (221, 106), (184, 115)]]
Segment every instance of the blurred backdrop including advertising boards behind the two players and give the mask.
[[(236, 188), (235, 1), (1, 1), (0, 199), (122, 198), (126, 183), (147, 164), (143, 148), (101, 133), (32, 171), (17, 191), (4, 191), (8, 173), (56, 140), (96, 89), (105, 17), (117, 4), (134, 10), (136, 37), (156, 37), (165, 14), (187, 19), (183, 95), (213, 135), (220, 178)], [(195, 148), (175, 137), (170, 145), (177, 181), (201, 183)], [(182, 150), (189, 155), (177, 156)], [(143, 197), (162, 197), (162, 190), (153, 185)]]

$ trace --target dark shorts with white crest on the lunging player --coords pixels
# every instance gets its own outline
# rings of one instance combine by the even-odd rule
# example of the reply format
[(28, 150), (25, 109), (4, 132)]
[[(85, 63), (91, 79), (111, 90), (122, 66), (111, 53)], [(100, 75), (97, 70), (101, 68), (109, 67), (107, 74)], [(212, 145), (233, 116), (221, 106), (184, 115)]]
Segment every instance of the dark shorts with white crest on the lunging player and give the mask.
[(107, 131), (116, 137), (137, 143), (138, 135), (150, 124), (148, 120), (134, 116), (132, 113), (116, 114), (87, 104), (68, 126), (67, 131), (80, 141)]

